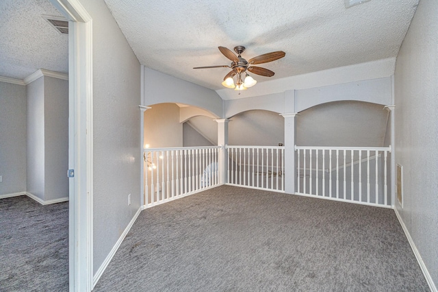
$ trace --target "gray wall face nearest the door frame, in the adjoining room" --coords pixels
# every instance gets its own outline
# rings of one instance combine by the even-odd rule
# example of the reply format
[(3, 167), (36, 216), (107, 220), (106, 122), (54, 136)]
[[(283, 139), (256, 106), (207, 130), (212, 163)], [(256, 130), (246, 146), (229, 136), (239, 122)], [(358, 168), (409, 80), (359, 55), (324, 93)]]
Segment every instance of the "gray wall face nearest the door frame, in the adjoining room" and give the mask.
[(68, 81), (44, 76), (44, 200), (68, 197)]

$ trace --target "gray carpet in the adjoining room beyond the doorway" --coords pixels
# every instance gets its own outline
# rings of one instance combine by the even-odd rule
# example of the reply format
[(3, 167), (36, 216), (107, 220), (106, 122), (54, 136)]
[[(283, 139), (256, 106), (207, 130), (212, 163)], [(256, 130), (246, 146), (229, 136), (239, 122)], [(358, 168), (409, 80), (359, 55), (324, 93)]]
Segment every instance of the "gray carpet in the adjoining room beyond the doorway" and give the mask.
[(68, 202), (0, 199), (0, 291), (68, 291)]

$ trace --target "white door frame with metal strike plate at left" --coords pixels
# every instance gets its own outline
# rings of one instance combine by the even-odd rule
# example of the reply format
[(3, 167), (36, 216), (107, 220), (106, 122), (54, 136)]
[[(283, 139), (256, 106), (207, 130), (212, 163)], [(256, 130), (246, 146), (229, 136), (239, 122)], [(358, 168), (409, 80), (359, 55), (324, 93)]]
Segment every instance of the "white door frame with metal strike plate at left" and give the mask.
[(70, 291), (91, 291), (92, 246), (92, 19), (79, 0), (50, 0), (68, 26), (68, 168)]

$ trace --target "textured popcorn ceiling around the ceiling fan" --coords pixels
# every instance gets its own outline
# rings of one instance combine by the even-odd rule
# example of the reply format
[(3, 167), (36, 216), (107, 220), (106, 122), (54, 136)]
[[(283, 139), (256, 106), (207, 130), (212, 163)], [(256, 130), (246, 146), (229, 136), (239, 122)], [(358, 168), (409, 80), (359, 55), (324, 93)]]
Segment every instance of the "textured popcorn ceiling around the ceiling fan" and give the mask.
[(105, 0), (144, 66), (223, 88), (230, 64), (218, 46), (244, 45), (246, 60), (282, 50), (285, 58), (260, 64), (274, 77), (258, 82), (394, 58), (419, 0), (371, 0), (346, 9), (344, 0), (200, 1)]

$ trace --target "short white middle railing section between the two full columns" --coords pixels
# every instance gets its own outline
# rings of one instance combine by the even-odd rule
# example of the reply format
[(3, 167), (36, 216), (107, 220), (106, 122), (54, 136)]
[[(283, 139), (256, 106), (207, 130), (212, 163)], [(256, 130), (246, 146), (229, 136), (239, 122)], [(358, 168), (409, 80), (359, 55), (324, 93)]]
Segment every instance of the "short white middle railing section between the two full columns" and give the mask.
[(226, 145), (227, 184), (284, 192), (284, 148)]

